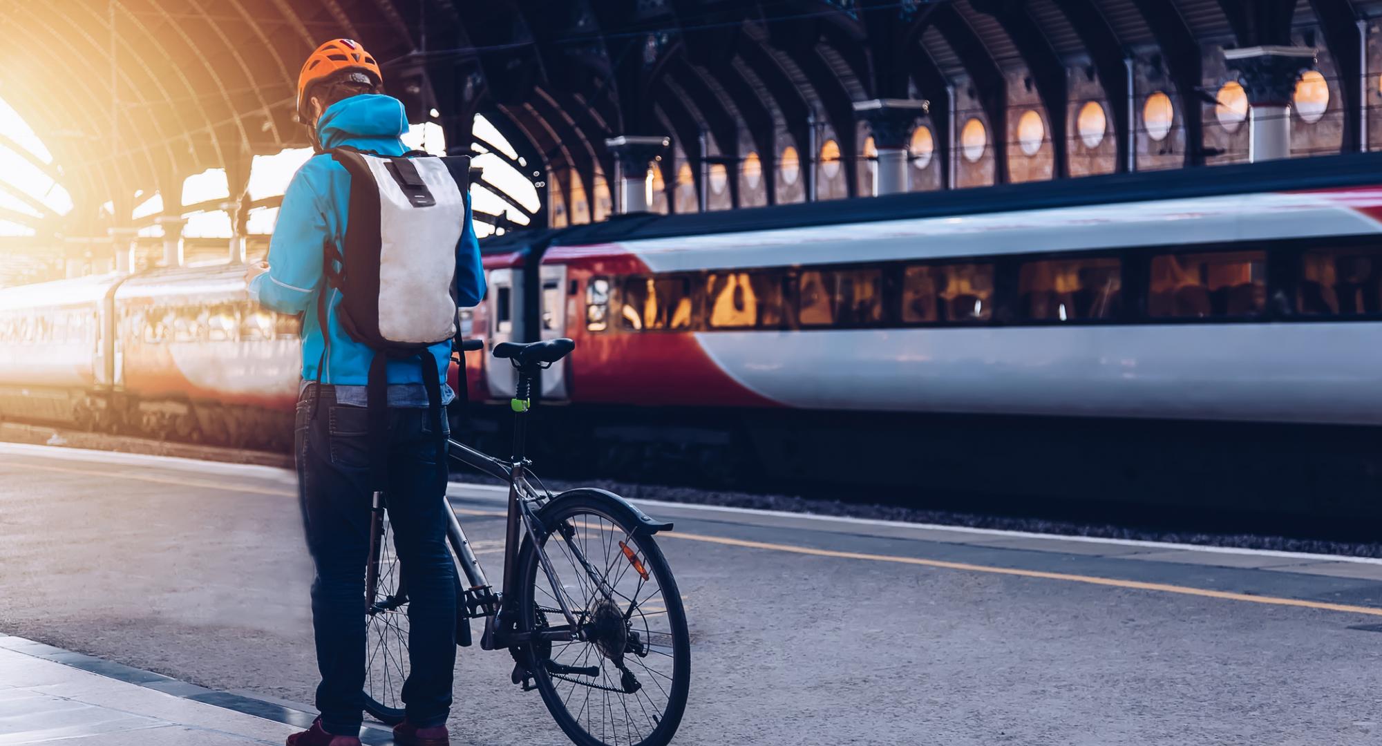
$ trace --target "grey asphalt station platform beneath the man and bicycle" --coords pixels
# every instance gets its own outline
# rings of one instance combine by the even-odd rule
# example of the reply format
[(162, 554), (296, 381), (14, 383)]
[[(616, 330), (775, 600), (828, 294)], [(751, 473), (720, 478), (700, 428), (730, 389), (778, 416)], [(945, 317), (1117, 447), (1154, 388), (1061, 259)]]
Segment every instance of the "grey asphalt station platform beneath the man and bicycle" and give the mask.
[[(149, 732), (279, 743), (310, 720), (290, 471), (0, 445), (0, 746), (43, 742), (6, 702), (95, 691), (104, 664), (158, 687), (69, 699)], [(502, 488), (451, 496), (495, 580)], [(1382, 561), (641, 506), (676, 524), (691, 623), (677, 743), (1382, 743)], [(510, 666), (460, 651), (455, 743), (564, 742)]]

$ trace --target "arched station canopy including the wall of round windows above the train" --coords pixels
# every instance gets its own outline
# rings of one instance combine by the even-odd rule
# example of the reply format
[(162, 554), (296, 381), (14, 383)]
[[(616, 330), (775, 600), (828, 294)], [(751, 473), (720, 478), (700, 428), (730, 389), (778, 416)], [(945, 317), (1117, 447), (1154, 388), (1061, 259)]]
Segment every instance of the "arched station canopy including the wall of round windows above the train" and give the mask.
[[(253, 171), (290, 174), (310, 155), (294, 86), (333, 37), (381, 62), (420, 145), (482, 156), (486, 232), (603, 220), (630, 174), (656, 211), (868, 196), (883, 149), (905, 149), (914, 191), (1244, 160), (1263, 83), (1224, 50), (1247, 47), (1314, 51), (1289, 70), (1292, 155), (1370, 149), (1379, 12), (1371, 0), (3, 0), (0, 163), (29, 175), (0, 175), (0, 221), (37, 239), (156, 238), (177, 220), (188, 235), (267, 231), (271, 213), (250, 213), (276, 206), (282, 186), (264, 184), (283, 177)], [(666, 145), (630, 155), (619, 138)], [(188, 196), (193, 177), (203, 191)]]

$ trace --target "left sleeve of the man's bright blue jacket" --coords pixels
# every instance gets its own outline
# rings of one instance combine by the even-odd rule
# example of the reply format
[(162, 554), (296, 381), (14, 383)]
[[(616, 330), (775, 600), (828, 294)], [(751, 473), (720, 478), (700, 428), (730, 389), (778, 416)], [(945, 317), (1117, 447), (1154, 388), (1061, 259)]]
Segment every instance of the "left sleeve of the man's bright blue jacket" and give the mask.
[(249, 286), (252, 300), (282, 314), (305, 311), (322, 283), (322, 243), (330, 229), (314, 175), (308, 162), (289, 182), (268, 243), (268, 272)]

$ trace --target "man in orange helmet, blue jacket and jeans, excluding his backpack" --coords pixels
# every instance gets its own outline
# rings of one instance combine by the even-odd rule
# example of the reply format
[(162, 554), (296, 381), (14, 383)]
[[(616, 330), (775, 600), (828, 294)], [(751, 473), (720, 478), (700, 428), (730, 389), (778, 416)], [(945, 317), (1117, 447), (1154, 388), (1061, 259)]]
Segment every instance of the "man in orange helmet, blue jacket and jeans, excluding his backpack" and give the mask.
[[(408, 130), (404, 106), (380, 95), (375, 59), (348, 39), (316, 48), (299, 76), (299, 116), (321, 149), (350, 145), (397, 156)], [(372, 492), (366, 381), (375, 352), (354, 341), (337, 314), (340, 290), (323, 279), (322, 245), (341, 245), (350, 174), (316, 155), (283, 193), (268, 261), (249, 269), (249, 293), (260, 304), (303, 319), (303, 387), (297, 403), (296, 461), (307, 546), (316, 566), (312, 627), (321, 717), (289, 736), (289, 746), (358, 746), (365, 682), (365, 562)], [(456, 247), (456, 298), (474, 305), (485, 291), (480, 245), (466, 198), (466, 224)], [(321, 294), (326, 294), (321, 298)], [(318, 309), (325, 308), (325, 319)], [(325, 332), (323, 332), (325, 330)], [(428, 352), (445, 381), (449, 343)], [(394, 729), (401, 746), (448, 746), (446, 717), (456, 656), (456, 579), (446, 548), (437, 439), (416, 359), (388, 361), (390, 521), (410, 586), (409, 663), (402, 699), (406, 720)], [(316, 383), (321, 381), (321, 392)], [(442, 403), (453, 398), (442, 384)], [(318, 396), (319, 394), (319, 396)], [(318, 410), (319, 402), (319, 410)], [(441, 419), (445, 430), (445, 416)], [(444, 464), (441, 466), (444, 468)]]

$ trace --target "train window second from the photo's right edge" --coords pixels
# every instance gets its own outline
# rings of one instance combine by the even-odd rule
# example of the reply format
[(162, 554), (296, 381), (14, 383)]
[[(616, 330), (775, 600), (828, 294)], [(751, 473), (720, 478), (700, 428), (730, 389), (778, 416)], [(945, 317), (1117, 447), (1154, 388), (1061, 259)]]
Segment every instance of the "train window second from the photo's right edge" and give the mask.
[(1161, 318), (1253, 316), (1267, 303), (1265, 251), (1151, 258), (1147, 312)]

